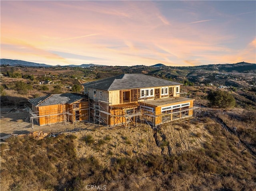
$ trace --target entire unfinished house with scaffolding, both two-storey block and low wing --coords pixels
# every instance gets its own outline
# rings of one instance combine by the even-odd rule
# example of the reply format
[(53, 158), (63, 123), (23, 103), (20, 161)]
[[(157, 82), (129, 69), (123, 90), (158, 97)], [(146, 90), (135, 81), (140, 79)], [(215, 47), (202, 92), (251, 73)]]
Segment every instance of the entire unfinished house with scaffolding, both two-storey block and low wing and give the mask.
[(190, 117), (200, 104), (186, 98), (182, 84), (142, 74), (123, 74), (85, 83), (84, 94), (64, 93), (30, 99), (30, 121), (40, 126), (94, 122), (107, 126), (151, 126)]

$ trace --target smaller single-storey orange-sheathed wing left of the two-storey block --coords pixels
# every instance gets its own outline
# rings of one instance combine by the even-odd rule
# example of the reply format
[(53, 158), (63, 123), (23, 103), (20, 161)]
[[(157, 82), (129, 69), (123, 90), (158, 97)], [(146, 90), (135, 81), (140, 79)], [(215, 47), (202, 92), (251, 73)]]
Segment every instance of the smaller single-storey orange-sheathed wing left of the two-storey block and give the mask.
[(61, 122), (68, 124), (69, 122), (88, 121), (89, 119), (88, 99), (80, 94), (53, 94), (28, 101), (31, 104), (29, 112), (32, 127), (34, 127), (34, 122), (44, 126)]

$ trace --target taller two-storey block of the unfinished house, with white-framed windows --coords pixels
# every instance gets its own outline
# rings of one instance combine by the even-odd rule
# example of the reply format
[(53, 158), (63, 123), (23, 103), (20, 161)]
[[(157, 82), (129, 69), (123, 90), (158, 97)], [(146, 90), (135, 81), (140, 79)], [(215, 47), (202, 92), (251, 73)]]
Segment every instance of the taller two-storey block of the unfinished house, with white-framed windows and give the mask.
[(186, 98), (183, 84), (148, 75), (123, 74), (83, 85), (94, 124), (158, 126), (200, 110), (200, 104)]

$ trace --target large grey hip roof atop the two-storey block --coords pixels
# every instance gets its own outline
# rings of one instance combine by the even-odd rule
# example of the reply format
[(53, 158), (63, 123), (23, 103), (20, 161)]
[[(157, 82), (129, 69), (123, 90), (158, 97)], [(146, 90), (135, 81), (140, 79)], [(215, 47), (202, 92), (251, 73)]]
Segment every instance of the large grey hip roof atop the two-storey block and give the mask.
[(152, 77), (144, 74), (122, 74), (98, 81), (84, 83), (84, 87), (100, 90), (124, 90), (137, 89), (148, 87), (161, 87), (183, 85), (178, 82), (168, 81), (157, 77)]

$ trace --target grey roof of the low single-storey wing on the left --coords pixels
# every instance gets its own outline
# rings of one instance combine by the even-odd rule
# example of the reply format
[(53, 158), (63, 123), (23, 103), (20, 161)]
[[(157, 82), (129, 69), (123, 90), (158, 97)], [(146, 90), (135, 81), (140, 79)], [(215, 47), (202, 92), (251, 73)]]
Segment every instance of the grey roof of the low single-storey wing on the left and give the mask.
[(52, 94), (48, 96), (42, 96), (28, 100), (34, 106), (46, 106), (61, 104), (72, 104), (76, 101), (81, 100), (83, 97), (76, 93), (65, 93), (65, 94)]

